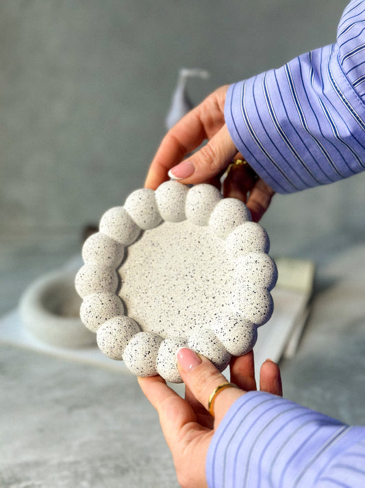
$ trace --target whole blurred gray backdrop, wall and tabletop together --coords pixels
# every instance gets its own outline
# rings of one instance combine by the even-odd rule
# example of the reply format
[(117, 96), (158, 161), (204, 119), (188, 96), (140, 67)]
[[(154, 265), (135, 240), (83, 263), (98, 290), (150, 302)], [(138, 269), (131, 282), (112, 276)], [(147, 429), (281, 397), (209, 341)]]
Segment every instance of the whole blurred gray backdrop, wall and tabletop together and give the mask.
[[(332, 43), (347, 0), (0, 2), (0, 312), (79, 254), (81, 228), (142, 187), (181, 67), (194, 103)], [(364, 417), (365, 174), (275, 196), (273, 256), (317, 265), (284, 393)], [(0, 345), (0, 486), (177, 486), (131, 375)]]

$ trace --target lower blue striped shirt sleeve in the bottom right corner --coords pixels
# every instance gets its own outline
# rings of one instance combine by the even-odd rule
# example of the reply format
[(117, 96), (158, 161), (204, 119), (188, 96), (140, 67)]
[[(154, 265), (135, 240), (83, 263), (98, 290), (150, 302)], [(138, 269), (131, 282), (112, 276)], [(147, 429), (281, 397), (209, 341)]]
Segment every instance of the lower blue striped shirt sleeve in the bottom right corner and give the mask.
[(206, 474), (209, 488), (364, 487), (365, 427), (249, 392), (216, 430)]

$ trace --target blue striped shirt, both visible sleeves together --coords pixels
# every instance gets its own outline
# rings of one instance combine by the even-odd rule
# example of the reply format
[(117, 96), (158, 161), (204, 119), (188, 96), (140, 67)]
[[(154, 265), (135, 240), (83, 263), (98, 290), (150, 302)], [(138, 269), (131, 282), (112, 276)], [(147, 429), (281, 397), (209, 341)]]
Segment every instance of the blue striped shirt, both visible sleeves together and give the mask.
[[(365, 169), (365, 0), (347, 5), (337, 42), (229, 87), (236, 147), (275, 191)], [(249, 392), (214, 434), (210, 488), (365, 487), (365, 427)]]

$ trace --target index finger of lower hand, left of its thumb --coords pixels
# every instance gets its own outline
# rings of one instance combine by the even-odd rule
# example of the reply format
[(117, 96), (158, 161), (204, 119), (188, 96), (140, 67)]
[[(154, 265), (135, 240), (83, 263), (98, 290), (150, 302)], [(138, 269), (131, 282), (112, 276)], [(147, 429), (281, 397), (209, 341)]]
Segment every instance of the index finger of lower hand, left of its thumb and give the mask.
[(138, 383), (149, 402), (158, 411), (162, 432), (168, 446), (173, 447), (175, 439), (187, 423), (196, 421), (194, 411), (175, 391), (169, 388), (160, 376), (138, 377)]

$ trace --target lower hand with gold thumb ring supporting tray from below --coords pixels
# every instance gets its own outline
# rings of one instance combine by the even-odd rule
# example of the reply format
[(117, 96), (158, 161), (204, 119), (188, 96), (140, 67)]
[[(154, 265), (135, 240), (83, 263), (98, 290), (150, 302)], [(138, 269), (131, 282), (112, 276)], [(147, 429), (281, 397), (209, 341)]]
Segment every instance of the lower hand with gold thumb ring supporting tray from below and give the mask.
[[(232, 358), (231, 382), (238, 388), (222, 390), (214, 402), (214, 417), (207, 411), (208, 399), (216, 386), (227, 379), (204, 358), (190, 349), (177, 353), (181, 378), (186, 384), (185, 399), (160, 376), (140, 377), (144, 395), (158, 410), (162, 432), (173, 454), (177, 479), (183, 488), (206, 487), (205, 458), (210, 441), (229, 407), (247, 391), (256, 389), (253, 352)], [(266, 360), (260, 371), (260, 389), (282, 395), (277, 364)]]

